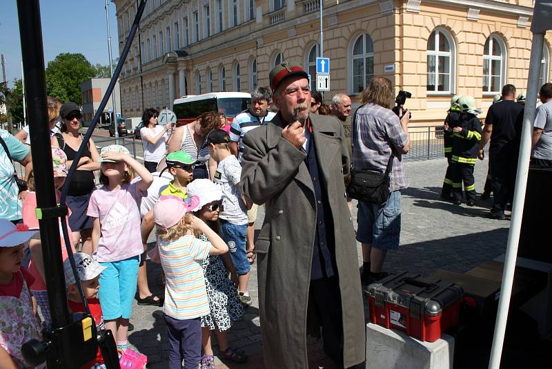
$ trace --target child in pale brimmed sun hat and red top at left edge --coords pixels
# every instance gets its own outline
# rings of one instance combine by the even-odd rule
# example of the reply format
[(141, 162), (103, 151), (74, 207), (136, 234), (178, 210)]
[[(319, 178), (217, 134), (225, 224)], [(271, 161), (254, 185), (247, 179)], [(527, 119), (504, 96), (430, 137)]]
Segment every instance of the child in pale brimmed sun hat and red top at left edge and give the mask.
[(21, 345), (41, 339), (30, 286), (34, 278), (21, 267), (23, 249), (38, 231), (0, 219), (0, 367), (25, 368)]

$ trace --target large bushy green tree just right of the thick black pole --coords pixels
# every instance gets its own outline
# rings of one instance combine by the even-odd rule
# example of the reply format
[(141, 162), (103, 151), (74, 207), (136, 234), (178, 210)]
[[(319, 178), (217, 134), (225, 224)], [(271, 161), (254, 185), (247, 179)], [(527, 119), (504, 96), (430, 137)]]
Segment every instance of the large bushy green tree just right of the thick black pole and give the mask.
[(95, 77), (96, 68), (79, 53), (63, 53), (48, 62), (46, 93), (63, 102), (82, 104), (81, 84)]

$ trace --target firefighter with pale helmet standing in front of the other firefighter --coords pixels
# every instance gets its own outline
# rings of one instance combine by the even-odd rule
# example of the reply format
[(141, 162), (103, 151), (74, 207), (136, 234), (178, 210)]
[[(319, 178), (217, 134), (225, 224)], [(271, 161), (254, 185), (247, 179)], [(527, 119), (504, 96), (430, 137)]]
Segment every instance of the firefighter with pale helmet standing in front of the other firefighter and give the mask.
[(453, 202), (462, 203), (462, 181), (466, 193), (466, 205), (475, 205), (475, 180), (473, 166), (477, 160), (481, 140), (481, 121), (477, 115), (482, 113), (475, 108), (475, 99), (469, 95), (461, 96), (457, 104), (461, 117), (453, 128), (453, 155), (451, 157), (451, 179), (453, 181)]

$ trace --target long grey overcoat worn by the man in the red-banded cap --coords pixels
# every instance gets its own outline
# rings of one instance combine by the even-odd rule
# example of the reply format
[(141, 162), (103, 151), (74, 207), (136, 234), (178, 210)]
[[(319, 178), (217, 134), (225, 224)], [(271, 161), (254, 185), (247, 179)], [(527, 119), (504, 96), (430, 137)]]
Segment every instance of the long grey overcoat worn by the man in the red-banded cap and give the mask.
[[(343, 182), (348, 153), (343, 127), (335, 117), (310, 118), (335, 227), (347, 368), (364, 361), (366, 339), (355, 233)], [(306, 152), (282, 138), (283, 126), (278, 113), (245, 136), (240, 184), (245, 196), (265, 204), (255, 243), (265, 367), (308, 368), (307, 305), (317, 207)]]

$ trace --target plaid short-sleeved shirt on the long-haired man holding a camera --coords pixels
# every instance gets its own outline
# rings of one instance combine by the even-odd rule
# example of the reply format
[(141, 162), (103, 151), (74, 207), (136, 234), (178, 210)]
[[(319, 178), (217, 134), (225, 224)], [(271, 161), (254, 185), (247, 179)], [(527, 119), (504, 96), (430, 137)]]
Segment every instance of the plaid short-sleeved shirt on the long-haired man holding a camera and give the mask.
[[(375, 104), (360, 106), (353, 131), (353, 168), (385, 172), (391, 151), (395, 155), (389, 190), (406, 189), (402, 155), (398, 149), (408, 142), (399, 117), (393, 111)], [(351, 127), (353, 129), (353, 127)]]

